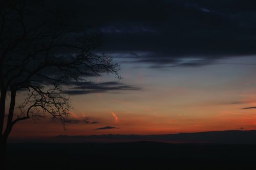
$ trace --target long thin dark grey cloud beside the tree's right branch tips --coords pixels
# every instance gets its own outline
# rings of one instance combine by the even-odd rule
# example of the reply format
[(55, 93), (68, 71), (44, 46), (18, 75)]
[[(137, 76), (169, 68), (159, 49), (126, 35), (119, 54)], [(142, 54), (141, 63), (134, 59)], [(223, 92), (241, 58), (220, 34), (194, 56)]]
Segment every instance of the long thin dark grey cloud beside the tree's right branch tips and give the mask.
[(132, 85), (125, 85), (121, 82), (71, 82), (72, 85), (77, 85), (72, 87), (67, 91), (68, 94), (89, 94), (89, 93), (104, 93), (110, 91), (120, 91), (120, 90), (140, 90), (139, 87), (134, 87)]

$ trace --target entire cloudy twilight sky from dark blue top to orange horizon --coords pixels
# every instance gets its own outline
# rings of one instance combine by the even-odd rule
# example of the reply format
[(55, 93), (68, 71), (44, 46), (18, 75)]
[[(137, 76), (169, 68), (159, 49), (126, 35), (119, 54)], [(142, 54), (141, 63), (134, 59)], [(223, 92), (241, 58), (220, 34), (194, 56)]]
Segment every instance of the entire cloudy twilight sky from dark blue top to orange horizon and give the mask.
[(100, 52), (120, 63), (123, 79), (102, 74), (72, 89), (67, 130), (28, 119), (10, 138), (256, 129), (255, 5), (63, 1), (102, 34)]

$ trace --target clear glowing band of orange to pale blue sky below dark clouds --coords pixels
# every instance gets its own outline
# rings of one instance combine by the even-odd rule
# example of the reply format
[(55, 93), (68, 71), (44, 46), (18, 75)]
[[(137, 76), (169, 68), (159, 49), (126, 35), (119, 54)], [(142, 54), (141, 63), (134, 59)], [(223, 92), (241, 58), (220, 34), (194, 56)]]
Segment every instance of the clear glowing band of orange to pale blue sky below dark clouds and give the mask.
[[(226, 60), (241, 62), (239, 58)], [(167, 71), (132, 68), (123, 65), (121, 82), (140, 90), (70, 96), (75, 108), (70, 119), (90, 117), (90, 123), (97, 123), (67, 123), (64, 131), (59, 122), (47, 117), (36, 122), (30, 119), (16, 124), (10, 138), (256, 129), (256, 109), (242, 109), (256, 106), (254, 65), (217, 64)], [(119, 80), (105, 75), (92, 81)], [(17, 102), (21, 98), (18, 96)], [(106, 126), (115, 128), (95, 130)]]

